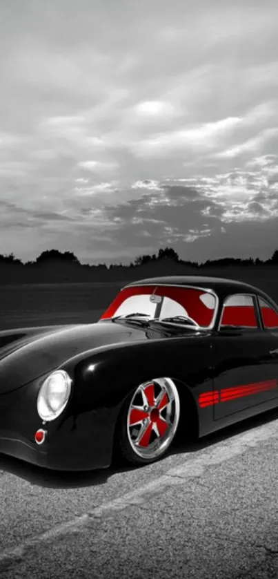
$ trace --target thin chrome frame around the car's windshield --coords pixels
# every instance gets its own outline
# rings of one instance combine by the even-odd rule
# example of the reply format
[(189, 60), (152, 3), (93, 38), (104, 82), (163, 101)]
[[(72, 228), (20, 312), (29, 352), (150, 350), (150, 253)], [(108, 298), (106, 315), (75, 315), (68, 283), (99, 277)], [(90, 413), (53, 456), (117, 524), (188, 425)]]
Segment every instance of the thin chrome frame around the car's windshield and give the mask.
[[(211, 287), (200, 287), (199, 285), (190, 285), (190, 284), (183, 285), (183, 284), (177, 284), (177, 283), (138, 283), (136, 285), (125, 285), (124, 287), (121, 288), (119, 294), (121, 292), (123, 292), (124, 289), (132, 289), (132, 287), (134, 287), (134, 288), (139, 288), (139, 287), (154, 287), (154, 288), (155, 287), (179, 287), (179, 289), (197, 289), (197, 291), (201, 291), (203, 294), (210, 294), (215, 298), (215, 307), (214, 307), (214, 311), (212, 314), (212, 320), (211, 320), (210, 324), (207, 326), (199, 326), (199, 328), (197, 328), (197, 326), (195, 327), (194, 325), (189, 326), (189, 324), (188, 324), (187, 326), (183, 325), (183, 328), (186, 328), (186, 327), (187, 328), (194, 328), (196, 331), (198, 331), (198, 330), (212, 330), (213, 328), (215, 328), (215, 322), (217, 320), (217, 314), (219, 312), (219, 302), (220, 301), (219, 301), (219, 296), (217, 295), (215, 290), (212, 289)], [(168, 296), (166, 296), (166, 297), (168, 297)], [(110, 305), (112, 305), (112, 304), (110, 304)], [(119, 307), (117, 309), (119, 309)], [(117, 310), (116, 310), (116, 312), (117, 312)], [(104, 313), (106, 313), (106, 312), (104, 312)], [(105, 321), (106, 319), (113, 319), (113, 317), (114, 317), (114, 314), (110, 318), (102, 316), (101, 319), (103, 321)], [(167, 316), (167, 317), (170, 317), (170, 316)], [(155, 319), (155, 317), (149, 318), (149, 321), (153, 321), (154, 319)], [(162, 321), (162, 319), (156, 318), (156, 321), (157, 322)], [(171, 325), (178, 325), (179, 328), (181, 328), (181, 325), (182, 325), (180, 322), (177, 322), (177, 321), (175, 321), (175, 322), (172, 321), (172, 322), (168, 322), (168, 323)]]

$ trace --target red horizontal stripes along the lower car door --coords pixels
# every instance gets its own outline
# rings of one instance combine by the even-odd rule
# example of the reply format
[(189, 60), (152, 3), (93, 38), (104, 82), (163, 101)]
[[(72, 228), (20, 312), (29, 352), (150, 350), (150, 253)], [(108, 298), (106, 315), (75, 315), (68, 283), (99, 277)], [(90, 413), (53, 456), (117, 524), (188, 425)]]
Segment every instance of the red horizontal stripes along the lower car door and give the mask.
[(259, 392), (266, 392), (267, 390), (277, 388), (277, 386), (278, 380), (272, 379), (261, 382), (253, 382), (250, 384), (245, 384), (244, 386), (232, 386), (231, 388), (224, 388), (223, 390), (210, 390), (209, 392), (202, 392), (198, 399), (199, 406), (200, 408), (206, 408), (206, 406), (213, 406), (214, 404), (218, 404), (219, 397), (221, 402), (228, 402), (229, 400), (235, 400), (244, 396), (258, 394)]

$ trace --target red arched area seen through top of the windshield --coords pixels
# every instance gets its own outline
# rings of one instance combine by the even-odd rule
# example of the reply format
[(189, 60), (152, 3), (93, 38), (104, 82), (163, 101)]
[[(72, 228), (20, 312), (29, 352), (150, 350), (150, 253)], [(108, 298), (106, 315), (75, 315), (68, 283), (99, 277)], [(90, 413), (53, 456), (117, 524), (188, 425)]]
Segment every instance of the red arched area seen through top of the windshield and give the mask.
[(106, 310), (106, 312), (101, 316), (101, 320), (114, 316), (118, 307), (124, 300), (126, 300), (126, 298), (138, 294), (152, 294), (154, 290), (155, 294), (159, 296), (166, 296), (177, 301), (186, 309), (188, 316), (197, 321), (199, 325), (205, 328), (210, 325), (215, 310), (209, 310), (208, 307), (206, 307), (206, 305), (199, 299), (199, 296), (206, 293), (204, 290), (173, 286), (157, 286), (155, 288), (153, 285), (127, 287), (126, 289), (123, 289), (116, 296), (115, 300), (112, 301), (108, 310)]

